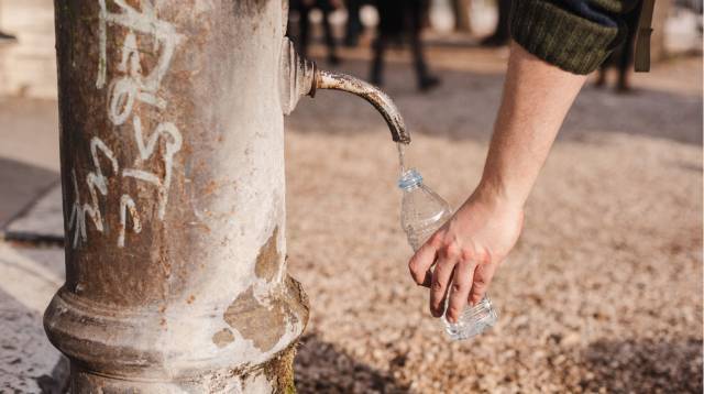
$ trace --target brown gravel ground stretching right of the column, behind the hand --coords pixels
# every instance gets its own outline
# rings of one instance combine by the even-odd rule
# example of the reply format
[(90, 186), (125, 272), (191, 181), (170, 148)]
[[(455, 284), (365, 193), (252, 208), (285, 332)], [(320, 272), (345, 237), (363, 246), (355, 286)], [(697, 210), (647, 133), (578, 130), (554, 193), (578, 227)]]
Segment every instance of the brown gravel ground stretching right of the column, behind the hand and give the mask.
[[(417, 95), (405, 63), (387, 86), (410, 164), (458, 206), (481, 174), (505, 53), (431, 55), (439, 90)], [(366, 75), (361, 61), (342, 68)], [(583, 91), (492, 285), (499, 321), (463, 342), (446, 339), (408, 276), (381, 118), (339, 92), (301, 102), (286, 152), (289, 269), (312, 306), (299, 391), (701, 393), (701, 58), (651, 78), (626, 96)]]

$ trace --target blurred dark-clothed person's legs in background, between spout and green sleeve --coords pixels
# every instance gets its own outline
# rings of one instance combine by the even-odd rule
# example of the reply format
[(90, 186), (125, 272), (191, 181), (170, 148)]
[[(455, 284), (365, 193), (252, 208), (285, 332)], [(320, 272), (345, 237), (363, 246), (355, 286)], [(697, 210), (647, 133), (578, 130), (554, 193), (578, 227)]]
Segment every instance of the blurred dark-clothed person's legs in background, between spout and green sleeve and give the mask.
[(380, 23), (374, 42), (371, 80), (382, 86), (384, 83), (384, 54), (392, 41), (400, 42), (406, 36), (410, 42), (414, 67), (418, 79), (418, 89), (427, 91), (440, 84), (440, 79), (431, 75), (425, 59), (420, 32), (428, 10), (424, 0), (378, 0), (376, 2)]

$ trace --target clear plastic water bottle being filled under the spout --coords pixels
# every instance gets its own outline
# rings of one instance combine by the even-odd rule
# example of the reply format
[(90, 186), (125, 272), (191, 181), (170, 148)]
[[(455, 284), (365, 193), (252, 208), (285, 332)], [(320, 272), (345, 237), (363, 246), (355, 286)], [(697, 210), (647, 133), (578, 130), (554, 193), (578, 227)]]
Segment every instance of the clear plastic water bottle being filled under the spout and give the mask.
[[(403, 172), (398, 179), (403, 190), (400, 225), (408, 243), (417, 251), (452, 216), (450, 205), (422, 183), (422, 176), (415, 168)], [(448, 297), (449, 299), (449, 297)], [(448, 308), (446, 299), (446, 310)], [(446, 331), (453, 340), (475, 337), (496, 324), (498, 318), (488, 296), (475, 306), (468, 305), (458, 322), (450, 322), (442, 316)]]

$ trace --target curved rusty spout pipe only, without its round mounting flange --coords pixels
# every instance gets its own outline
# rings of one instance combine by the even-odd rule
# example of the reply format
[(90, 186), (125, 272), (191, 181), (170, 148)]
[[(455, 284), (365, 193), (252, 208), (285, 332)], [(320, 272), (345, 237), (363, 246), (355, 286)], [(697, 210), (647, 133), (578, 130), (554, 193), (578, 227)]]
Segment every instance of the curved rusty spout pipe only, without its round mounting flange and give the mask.
[(342, 90), (365, 99), (384, 117), (395, 142), (410, 143), (410, 134), (398, 108), (392, 98), (376, 86), (346, 74), (316, 69), (310, 96), (315, 95), (316, 89)]

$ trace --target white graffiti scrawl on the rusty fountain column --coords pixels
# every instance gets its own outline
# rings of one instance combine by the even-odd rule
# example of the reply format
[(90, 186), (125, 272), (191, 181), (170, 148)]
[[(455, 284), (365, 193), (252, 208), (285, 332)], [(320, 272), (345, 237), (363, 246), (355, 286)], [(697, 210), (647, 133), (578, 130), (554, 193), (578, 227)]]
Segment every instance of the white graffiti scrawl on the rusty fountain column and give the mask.
[[(123, 167), (120, 173), (120, 165), (113, 152), (108, 145), (97, 136), (90, 142), (94, 171), (86, 176), (86, 185), (90, 194), (90, 201), (81, 205), (76, 171), (72, 172), (74, 184), (75, 201), (72, 206), (72, 214), (68, 220), (68, 228), (74, 231), (73, 248), (77, 248), (79, 240), (87, 241), (86, 218), (90, 218), (98, 232), (105, 231), (102, 214), (100, 211), (99, 196), (107, 197), (109, 194), (108, 178), (100, 167), (98, 153), (110, 162), (112, 175), (120, 175), (119, 178), (133, 178), (151, 184), (156, 187), (158, 196), (157, 217), (163, 220), (166, 215), (168, 204), (168, 191), (172, 184), (174, 167), (174, 156), (180, 151), (183, 138), (178, 128), (172, 122), (161, 122), (152, 133), (144, 135), (142, 120), (134, 112), (139, 103), (155, 108), (157, 111), (166, 109), (168, 102), (160, 97), (158, 90), (164, 76), (166, 76), (176, 46), (183, 41), (183, 36), (176, 32), (170, 23), (160, 20), (153, 0), (141, 1), (140, 10), (128, 4), (124, 0), (112, 0), (117, 12), (108, 9), (106, 0), (98, 0), (100, 6), (98, 18), (99, 34), (99, 64), (96, 86), (107, 89), (107, 111), (108, 119), (118, 128), (132, 117), (134, 130), (134, 142), (139, 156), (133, 160), (131, 167)], [(127, 29), (122, 46), (120, 48), (120, 61), (114, 65), (116, 77), (108, 84), (108, 28)], [(152, 48), (150, 54), (158, 54), (156, 63), (146, 74), (143, 69), (143, 51), (139, 47), (138, 37), (147, 36), (151, 39)], [(118, 129), (116, 131), (119, 132)], [(164, 149), (161, 149), (163, 143)], [(156, 153), (156, 154), (155, 154)], [(151, 161), (161, 155), (163, 164), (163, 175), (160, 176), (151, 168), (146, 167), (146, 161)], [(154, 167), (151, 161), (151, 167)], [(128, 216), (132, 223), (132, 231), (142, 231), (142, 219), (138, 210), (136, 201), (129, 195), (122, 194), (120, 197), (120, 228), (118, 231), (117, 244), (123, 248), (125, 243), (125, 231), (128, 228)]]

